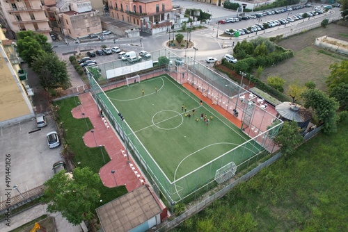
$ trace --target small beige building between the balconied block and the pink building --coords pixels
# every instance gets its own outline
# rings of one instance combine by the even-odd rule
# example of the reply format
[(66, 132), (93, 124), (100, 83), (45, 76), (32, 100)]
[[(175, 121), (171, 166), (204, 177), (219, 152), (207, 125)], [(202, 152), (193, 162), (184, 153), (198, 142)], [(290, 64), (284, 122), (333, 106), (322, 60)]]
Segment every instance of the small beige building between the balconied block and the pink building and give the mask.
[(53, 31), (70, 38), (81, 38), (102, 32), (100, 12), (93, 10), (90, 0), (44, 0)]

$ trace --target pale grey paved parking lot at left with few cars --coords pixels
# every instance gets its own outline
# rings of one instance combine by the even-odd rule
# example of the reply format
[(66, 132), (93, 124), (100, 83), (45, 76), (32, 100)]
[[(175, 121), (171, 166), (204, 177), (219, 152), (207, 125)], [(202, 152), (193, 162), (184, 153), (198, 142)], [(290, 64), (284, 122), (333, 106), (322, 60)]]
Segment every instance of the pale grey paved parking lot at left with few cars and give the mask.
[[(14, 185), (18, 185), (18, 190), (22, 193), (42, 185), (53, 176), (52, 165), (61, 160), (62, 146), (49, 149), (46, 135), (56, 129), (52, 119), (49, 116), (46, 119), (47, 126), (41, 129), (37, 128), (35, 118), (0, 128), (0, 151), (3, 153), (0, 162), (0, 176), (3, 176), (0, 201), (4, 200), (9, 187), (12, 189)], [(10, 159), (6, 160), (5, 155)], [(7, 183), (5, 176), (8, 174), (10, 179)], [(12, 190), (12, 196), (17, 194), (17, 190)]]

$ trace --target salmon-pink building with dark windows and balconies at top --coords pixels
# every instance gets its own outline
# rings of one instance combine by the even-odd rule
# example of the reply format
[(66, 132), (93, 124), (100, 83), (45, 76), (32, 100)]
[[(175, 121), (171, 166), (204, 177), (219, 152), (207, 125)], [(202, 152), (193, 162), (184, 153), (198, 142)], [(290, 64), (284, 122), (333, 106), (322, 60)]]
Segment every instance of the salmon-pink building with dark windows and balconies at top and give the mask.
[(132, 24), (153, 34), (153, 29), (167, 28), (177, 17), (171, 0), (109, 0), (109, 17)]

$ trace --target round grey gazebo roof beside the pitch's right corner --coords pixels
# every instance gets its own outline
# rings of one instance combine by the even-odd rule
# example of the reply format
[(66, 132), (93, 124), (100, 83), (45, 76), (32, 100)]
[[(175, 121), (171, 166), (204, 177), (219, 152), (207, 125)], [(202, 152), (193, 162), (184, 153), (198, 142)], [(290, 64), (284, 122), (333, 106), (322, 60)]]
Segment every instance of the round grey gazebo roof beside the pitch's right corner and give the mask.
[(312, 117), (309, 110), (299, 104), (289, 101), (280, 103), (278, 106), (276, 106), (276, 110), (284, 119), (290, 121), (294, 120), (295, 122), (306, 122)]

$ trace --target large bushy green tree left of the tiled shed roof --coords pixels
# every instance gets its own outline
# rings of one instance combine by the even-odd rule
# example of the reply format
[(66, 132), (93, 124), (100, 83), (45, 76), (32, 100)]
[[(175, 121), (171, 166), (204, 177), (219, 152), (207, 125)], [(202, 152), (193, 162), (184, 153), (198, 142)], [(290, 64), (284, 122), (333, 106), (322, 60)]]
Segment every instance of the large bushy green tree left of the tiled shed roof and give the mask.
[(64, 172), (58, 172), (44, 183), (45, 202), (49, 213), (61, 212), (71, 224), (78, 225), (95, 217), (95, 206), (100, 193), (98, 174), (89, 167), (74, 169), (71, 179)]

